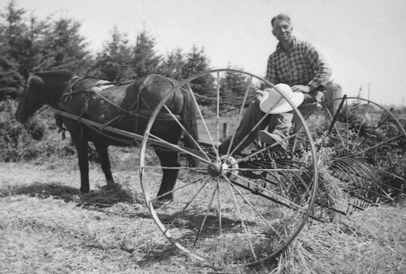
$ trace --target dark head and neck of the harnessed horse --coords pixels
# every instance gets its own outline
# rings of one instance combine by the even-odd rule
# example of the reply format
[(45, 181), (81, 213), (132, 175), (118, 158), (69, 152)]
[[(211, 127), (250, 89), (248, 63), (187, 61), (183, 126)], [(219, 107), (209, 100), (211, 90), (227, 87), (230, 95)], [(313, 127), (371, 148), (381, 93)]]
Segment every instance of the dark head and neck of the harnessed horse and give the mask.
[(73, 76), (69, 71), (49, 71), (30, 76), (27, 69), (22, 71), (22, 75), (25, 78), (24, 92), (15, 112), (15, 119), (22, 124), (44, 104), (56, 108)]

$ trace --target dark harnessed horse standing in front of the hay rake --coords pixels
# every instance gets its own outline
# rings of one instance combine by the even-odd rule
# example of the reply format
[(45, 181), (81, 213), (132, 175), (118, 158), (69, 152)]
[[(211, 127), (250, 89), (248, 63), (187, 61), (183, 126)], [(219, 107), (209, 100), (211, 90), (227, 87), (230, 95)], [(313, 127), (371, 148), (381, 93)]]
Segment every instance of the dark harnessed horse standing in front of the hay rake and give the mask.
[[(76, 147), (80, 170), (80, 192), (90, 192), (89, 185), (89, 145), (92, 142), (97, 154), (107, 184), (114, 182), (111, 173), (111, 162), (108, 147), (134, 145), (134, 140), (106, 134), (101, 130), (88, 126), (81, 119), (92, 120), (109, 125), (116, 129), (142, 135), (148, 124), (148, 119), (161, 99), (176, 85), (176, 81), (160, 75), (148, 75), (137, 78), (123, 85), (109, 85), (106, 88), (99, 86), (99, 79), (83, 78), (73, 79), (71, 71), (44, 71), (30, 75), (27, 70), (22, 72), (26, 85), (15, 118), (24, 124), (29, 117), (34, 115), (44, 105), (63, 110), (78, 117), (76, 120), (62, 117), (62, 122), (71, 135), (71, 140)], [(97, 90), (98, 89), (98, 90)], [(193, 103), (190, 90), (177, 89), (165, 103), (175, 117), (181, 117), (181, 124), (189, 132), (185, 136), (184, 145), (195, 148), (192, 138), (198, 140), (197, 124), (195, 117), (197, 108)], [(162, 110), (165, 111), (165, 110)], [(181, 126), (174, 121), (169, 113), (160, 113), (166, 119), (154, 122), (151, 133), (163, 140), (176, 144), (182, 136)], [(160, 116), (158, 115), (158, 117)], [(166, 116), (165, 116), (166, 115)], [(186, 134), (185, 134), (186, 135)], [(180, 166), (178, 152), (162, 150), (155, 146), (161, 166), (163, 168), (162, 182), (158, 196), (174, 189), (179, 170), (173, 167)], [(189, 161), (190, 165), (197, 163)], [(158, 203), (172, 201), (172, 193), (160, 198)]]

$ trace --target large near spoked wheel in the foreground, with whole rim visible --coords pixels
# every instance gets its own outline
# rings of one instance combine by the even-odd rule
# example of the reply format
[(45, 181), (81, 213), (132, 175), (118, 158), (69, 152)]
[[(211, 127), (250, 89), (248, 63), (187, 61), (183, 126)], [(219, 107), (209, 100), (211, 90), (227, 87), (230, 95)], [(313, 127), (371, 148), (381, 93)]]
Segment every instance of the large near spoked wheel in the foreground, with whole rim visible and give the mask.
[[(204, 90), (204, 96), (202, 87), (209, 88)], [(201, 73), (174, 87), (155, 109), (146, 127), (140, 179), (148, 208), (176, 247), (211, 264), (251, 265), (274, 257), (291, 243), (312, 214), (317, 163), (306, 124), (300, 138), (307, 147), (291, 144), (282, 153), (274, 148), (281, 142), (290, 143), (295, 136), (273, 145), (265, 145), (254, 137), (252, 143), (241, 147), (241, 152), (232, 146), (227, 146), (225, 152), (218, 151), (219, 143), (234, 140), (244, 105), (255, 99), (255, 89), (260, 87), (274, 85), (250, 73), (231, 69)], [(187, 121), (173, 115), (165, 104), (179, 89), (190, 95), (196, 108), (194, 122), (200, 139), (192, 140), (192, 149), (185, 147), (186, 141), (172, 145), (153, 134), (154, 124), (162, 122), (159, 113), (165, 112), (183, 129), (183, 140), (192, 136), (184, 126)], [(304, 122), (297, 108), (289, 99), (286, 101), (296, 119)], [(236, 109), (228, 111), (232, 108)], [(253, 131), (262, 129), (266, 117), (252, 124)], [(225, 122), (228, 122), (227, 130), (223, 130)], [(251, 137), (244, 136), (244, 140), (248, 138)], [(160, 166), (147, 150), (151, 147), (148, 144), (158, 150), (161, 147), (178, 152), (179, 166)], [(196, 167), (191, 165), (193, 161), (198, 161)], [(176, 185), (157, 196), (160, 176), (169, 170), (179, 172)], [(164, 203), (167, 194), (174, 198)]]

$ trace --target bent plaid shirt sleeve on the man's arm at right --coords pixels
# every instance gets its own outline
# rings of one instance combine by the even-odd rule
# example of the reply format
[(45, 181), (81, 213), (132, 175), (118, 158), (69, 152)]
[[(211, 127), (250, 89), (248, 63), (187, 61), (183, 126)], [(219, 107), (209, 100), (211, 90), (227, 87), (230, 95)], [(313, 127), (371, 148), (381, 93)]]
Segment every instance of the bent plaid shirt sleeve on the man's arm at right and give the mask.
[(324, 57), (310, 43), (307, 43), (305, 51), (305, 55), (307, 57), (307, 60), (311, 64), (311, 68), (314, 69), (314, 71), (316, 72), (314, 74), (314, 78), (311, 79), (307, 85), (313, 88), (316, 88), (320, 85), (325, 86), (332, 73), (330, 65), (325, 62)]

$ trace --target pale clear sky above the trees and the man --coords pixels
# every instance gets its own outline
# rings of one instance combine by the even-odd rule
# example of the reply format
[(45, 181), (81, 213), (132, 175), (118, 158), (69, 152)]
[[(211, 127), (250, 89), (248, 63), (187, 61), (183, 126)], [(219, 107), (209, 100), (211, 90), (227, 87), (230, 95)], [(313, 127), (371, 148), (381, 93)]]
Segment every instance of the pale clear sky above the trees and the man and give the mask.
[[(0, 0), (3, 10), (9, 0)], [(90, 50), (102, 50), (114, 27), (134, 43), (144, 28), (162, 55), (204, 48), (213, 69), (259, 77), (277, 41), (270, 20), (290, 16), (293, 35), (312, 43), (344, 94), (382, 105), (406, 104), (405, 0), (16, 0), (28, 15), (71, 18)]]

